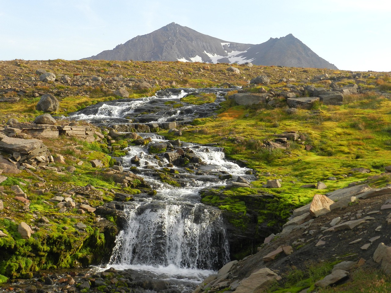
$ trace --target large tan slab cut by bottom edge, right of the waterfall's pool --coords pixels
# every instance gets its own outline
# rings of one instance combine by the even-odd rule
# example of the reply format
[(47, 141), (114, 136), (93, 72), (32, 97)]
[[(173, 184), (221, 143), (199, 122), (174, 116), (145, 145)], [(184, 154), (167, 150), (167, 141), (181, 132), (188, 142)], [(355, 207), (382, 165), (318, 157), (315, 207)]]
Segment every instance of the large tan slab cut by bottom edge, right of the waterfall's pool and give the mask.
[(252, 273), (248, 278), (240, 281), (235, 293), (258, 293), (267, 289), (268, 285), (274, 280), (282, 278), (269, 268), (261, 268)]

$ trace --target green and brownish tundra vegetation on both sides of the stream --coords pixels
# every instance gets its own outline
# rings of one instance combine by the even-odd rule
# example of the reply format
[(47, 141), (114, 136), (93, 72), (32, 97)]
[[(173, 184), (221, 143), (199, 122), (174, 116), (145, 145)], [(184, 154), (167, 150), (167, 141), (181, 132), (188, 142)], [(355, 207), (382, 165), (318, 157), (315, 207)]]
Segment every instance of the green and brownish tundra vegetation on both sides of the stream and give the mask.
[[(212, 143), (223, 147), (230, 159), (254, 170), (256, 180), (251, 182), (251, 188), (211, 188), (201, 192), (200, 200), (204, 204), (218, 207), (224, 211), (232, 225), (244, 230), (256, 215), (259, 233), (278, 232), (291, 216), (292, 210), (310, 202), (316, 193), (325, 194), (357, 182), (366, 182), (373, 188), (380, 188), (391, 181), (389, 173), (384, 173), (384, 168), (391, 165), (391, 77), (387, 73), (276, 66), (249, 68), (234, 64), (240, 70), (240, 74), (234, 74), (226, 71), (228, 64), (138, 61), (114, 63), (59, 59), (0, 61), (0, 64), (0, 98), (19, 98), (14, 103), (0, 103), (2, 126), (9, 119), (31, 122), (36, 116), (43, 114), (36, 110), (36, 104), (39, 96), (46, 93), (52, 93), (59, 99), (59, 111), (54, 116), (67, 116), (88, 105), (121, 98), (113, 95), (112, 85), (103, 81), (94, 86), (88, 82), (73, 85), (37, 81), (35, 71), (38, 68), (45, 68), (56, 75), (67, 75), (72, 80), (92, 76), (105, 79), (120, 75), (131, 80), (126, 90), (129, 98), (134, 99), (151, 96), (163, 88), (203, 88), (227, 84), (242, 86), (242, 89), (251, 93), (273, 92), (275, 103), (246, 106), (237, 105), (233, 99), (228, 99), (228, 96), (237, 93), (233, 90), (227, 95), (227, 100), (221, 103), (216, 115), (197, 119), (192, 125), (183, 127), (180, 137), (183, 141)], [(288, 91), (292, 85), (329, 89), (332, 79), (312, 79), (325, 73), (337, 80), (334, 86), (356, 83), (361, 93), (344, 95), (341, 105), (317, 102), (311, 109), (298, 108), (298, 111), (288, 113), (286, 99), (279, 93)], [(357, 73), (360, 77), (353, 78), (353, 74)], [(267, 75), (270, 83), (249, 84), (249, 80), (258, 75)], [(27, 82), (30, 77), (35, 81)], [(137, 88), (136, 84), (140, 80), (153, 86)], [(181, 102), (199, 105), (214, 100), (214, 95), (204, 94), (187, 96)], [(176, 104), (172, 104), (172, 107), (175, 108)], [(273, 134), (291, 131), (300, 134), (301, 140), (289, 141), (284, 149), (264, 147), (265, 141), (271, 140)], [(101, 132), (103, 135), (108, 134), (108, 130)], [(168, 130), (160, 130), (159, 134), (167, 139), (178, 139), (174, 132)], [(66, 166), (74, 166), (75, 171), (59, 174), (54, 169), (37, 169), (34, 175), (25, 169), (18, 174), (2, 174), (7, 179), (0, 183), (0, 199), (5, 207), (0, 211), (0, 231), (6, 236), (0, 237), (0, 249), (4, 252), (0, 255), (0, 282), (16, 277), (29, 278), (43, 269), (99, 263), (104, 256), (102, 251), (109, 253), (117, 233), (117, 226), (113, 223), (117, 219), (108, 216), (108, 223), (103, 227), (96, 223), (93, 213), (78, 214), (77, 209), (68, 209), (66, 213), (60, 214), (55, 205), (48, 202), (57, 193), (72, 192), (79, 197), (80, 202), (87, 199), (94, 207), (112, 201), (118, 191), (129, 195), (140, 192), (153, 194), (140, 180), (134, 180), (133, 184), (124, 187), (115, 182), (113, 176), (102, 170), (102, 167), (93, 168), (89, 163), (99, 159), (103, 167), (112, 166), (113, 158), (124, 155), (126, 147), (133, 143), (132, 139), (120, 137), (110, 143), (104, 138), (100, 142), (89, 143), (64, 136), (42, 141), (51, 154), (65, 157), (65, 162), (51, 163), (50, 166), (62, 170)], [(2, 155), (7, 157), (9, 154), (2, 152)], [(77, 162), (81, 163), (76, 164)], [(357, 171), (358, 168), (368, 169), (369, 172), (361, 173)], [(31, 188), (40, 182), (37, 176), (46, 181), (47, 189), (42, 194), (34, 193), (34, 188)], [(337, 180), (330, 180), (331, 177)], [(279, 179), (282, 187), (265, 188), (264, 184), (271, 179)], [(169, 170), (161, 174), (161, 180), (178, 186)], [(327, 187), (322, 190), (301, 188), (304, 184), (316, 184), (319, 181), (324, 182)], [(87, 198), (79, 188), (88, 184), (97, 193)], [(23, 204), (14, 199), (13, 191), (9, 188), (14, 185), (20, 186), (29, 198), (29, 209), (23, 211)], [(255, 197), (261, 200), (255, 201)], [(50, 225), (43, 225), (29, 239), (22, 239), (18, 224), (26, 222), (36, 225), (41, 216), (45, 216)], [(79, 222), (86, 227), (75, 227)], [(260, 244), (254, 243), (253, 246)], [(239, 259), (248, 255), (251, 248), (253, 247), (244, 247), (235, 256)], [(330, 260), (330, 263), (321, 267), (311, 266), (287, 272), (283, 285), (285, 287), (274, 283), (269, 292), (288, 292), (287, 289), (289, 292), (298, 292), (301, 290), (298, 288), (308, 288), (330, 272), (333, 261), (335, 260)], [(353, 274), (349, 290), (357, 292), (360, 290), (358, 288), (369, 288), (371, 292), (383, 292), (389, 286), (389, 277), (361, 268)], [(339, 292), (338, 290), (320, 289), (319, 292)]]

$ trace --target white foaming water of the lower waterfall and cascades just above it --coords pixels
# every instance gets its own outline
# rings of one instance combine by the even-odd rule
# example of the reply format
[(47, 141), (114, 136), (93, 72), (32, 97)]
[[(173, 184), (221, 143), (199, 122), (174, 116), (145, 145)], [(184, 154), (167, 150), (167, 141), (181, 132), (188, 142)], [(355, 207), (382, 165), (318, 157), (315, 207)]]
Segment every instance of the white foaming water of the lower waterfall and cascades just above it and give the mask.
[[(165, 142), (149, 135), (154, 142)], [(203, 163), (215, 170), (244, 175), (247, 168), (226, 161), (222, 148), (187, 144)], [(163, 164), (148, 154), (147, 147), (129, 147), (124, 167), (140, 157), (140, 167), (161, 169)], [(147, 169), (147, 170), (148, 170)], [(140, 169), (142, 170), (142, 169)], [(178, 168), (179, 172), (185, 172)], [(187, 172), (187, 171), (186, 171)], [(148, 173), (148, 172), (147, 172)], [(221, 211), (199, 203), (199, 190), (226, 182), (195, 180), (188, 187), (176, 188), (142, 175), (157, 194), (136, 202), (126, 210), (127, 227), (120, 232), (109, 266), (164, 272), (169, 278), (201, 280), (229, 261), (229, 246)]]

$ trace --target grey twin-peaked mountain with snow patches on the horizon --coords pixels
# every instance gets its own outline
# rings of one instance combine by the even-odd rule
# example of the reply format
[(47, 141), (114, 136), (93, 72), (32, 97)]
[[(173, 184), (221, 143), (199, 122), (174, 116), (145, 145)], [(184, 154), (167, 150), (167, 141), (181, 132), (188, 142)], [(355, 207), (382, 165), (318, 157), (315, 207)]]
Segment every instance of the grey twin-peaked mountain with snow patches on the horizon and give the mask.
[(242, 44), (213, 38), (176, 23), (84, 59), (238, 64), (251, 62), (255, 65), (337, 69), (292, 34), (270, 38), (258, 45)]

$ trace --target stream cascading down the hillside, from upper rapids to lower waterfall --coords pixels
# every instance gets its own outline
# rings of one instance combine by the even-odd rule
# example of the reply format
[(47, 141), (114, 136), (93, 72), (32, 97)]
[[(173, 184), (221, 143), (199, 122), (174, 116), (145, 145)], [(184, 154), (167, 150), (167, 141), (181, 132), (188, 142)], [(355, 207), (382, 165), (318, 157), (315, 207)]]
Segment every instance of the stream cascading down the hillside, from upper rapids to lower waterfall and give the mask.
[[(224, 100), (226, 89), (202, 89), (217, 93), (215, 103), (201, 106), (180, 102), (187, 93), (197, 89), (163, 90), (156, 96), (140, 99), (124, 99), (100, 103), (71, 116), (72, 120), (87, 120), (98, 125), (118, 123), (160, 123), (167, 121), (191, 121), (209, 116)], [(169, 102), (169, 103), (167, 103)], [(172, 109), (176, 103), (181, 107)], [(145, 114), (150, 113), (150, 114)], [(147, 116), (147, 117), (145, 117)], [(152, 138), (152, 142), (167, 142), (161, 136), (140, 133)], [(181, 166), (173, 168), (181, 179), (181, 187), (173, 187), (156, 179), (154, 173), (167, 166), (169, 161), (149, 154), (148, 146), (127, 149), (122, 159), (125, 170), (136, 166), (156, 195), (136, 198), (126, 206), (127, 224), (118, 234), (113, 254), (107, 267), (135, 269), (149, 272), (162, 279), (187, 282), (183, 291), (195, 287), (197, 282), (230, 261), (229, 245), (221, 217), (221, 211), (201, 203), (199, 191), (208, 186), (226, 185), (219, 175), (230, 173), (231, 181), (246, 175), (247, 168), (228, 161), (222, 148), (183, 143), (182, 148), (199, 157), (202, 164), (194, 164), (198, 172), (189, 172)], [(175, 147), (180, 148), (180, 147)], [(137, 155), (140, 161), (132, 164)], [(179, 280), (179, 281), (178, 281)]]

